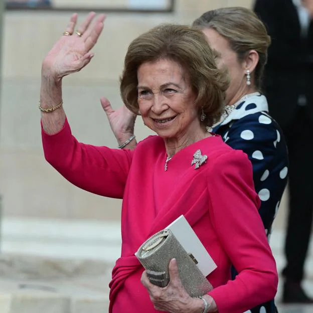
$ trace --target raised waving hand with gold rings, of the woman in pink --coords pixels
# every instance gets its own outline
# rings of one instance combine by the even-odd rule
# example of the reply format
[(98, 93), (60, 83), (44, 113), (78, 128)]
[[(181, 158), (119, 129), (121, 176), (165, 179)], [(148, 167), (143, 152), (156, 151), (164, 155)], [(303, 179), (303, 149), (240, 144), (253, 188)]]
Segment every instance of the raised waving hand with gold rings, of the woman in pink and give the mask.
[(104, 15), (91, 12), (77, 28), (77, 14), (73, 14), (63, 36), (49, 51), (42, 64), (44, 75), (61, 80), (64, 76), (80, 71), (93, 57), (90, 51), (96, 44), (102, 30)]

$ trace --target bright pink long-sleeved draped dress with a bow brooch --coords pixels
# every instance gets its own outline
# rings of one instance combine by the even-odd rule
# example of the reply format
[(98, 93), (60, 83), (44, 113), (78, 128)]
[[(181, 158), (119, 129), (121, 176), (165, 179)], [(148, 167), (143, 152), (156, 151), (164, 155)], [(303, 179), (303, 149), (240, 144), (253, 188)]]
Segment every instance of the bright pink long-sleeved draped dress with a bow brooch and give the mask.
[[(195, 142), (168, 163), (164, 141), (149, 136), (135, 150), (79, 143), (68, 122), (54, 135), (42, 130), (47, 161), (68, 181), (89, 192), (123, 199), (122, 250), (110, 282), (110, 313), (154, 313), (134, 253), (152, 234), (184, 214), (217, 264), (207, 276), (219, 313), (242, 313), (270, 300), (277, 271), (258, 214), (252, 167), (246, 154), (220, 136)], [(200, 149), (206, 163), (195, 170)], [(239, 272), (230, 280), (231, 264)]]

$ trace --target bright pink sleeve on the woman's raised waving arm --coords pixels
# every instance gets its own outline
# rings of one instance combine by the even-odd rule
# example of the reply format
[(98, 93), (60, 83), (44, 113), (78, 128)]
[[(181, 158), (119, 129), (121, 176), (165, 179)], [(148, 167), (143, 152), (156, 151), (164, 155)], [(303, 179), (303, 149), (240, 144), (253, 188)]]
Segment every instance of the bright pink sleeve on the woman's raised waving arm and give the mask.
[(67, 120), (53, 135), (42, 128), (42, 142), (46, 160), (69, 182), (101, 196), (123, 197), (132, 151), (80, 143)]

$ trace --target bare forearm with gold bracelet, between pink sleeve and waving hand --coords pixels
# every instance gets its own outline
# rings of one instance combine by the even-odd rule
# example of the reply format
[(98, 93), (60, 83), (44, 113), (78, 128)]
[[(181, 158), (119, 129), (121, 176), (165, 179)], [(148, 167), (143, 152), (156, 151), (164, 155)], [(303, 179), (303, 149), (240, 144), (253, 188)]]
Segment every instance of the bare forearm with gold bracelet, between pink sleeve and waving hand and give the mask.
[[(48, 109), (57, 106), (62, 101), (62, 80), (57, 80), (49, 74), (42, 73), (40, 106)], [(46, 133), (59, 132), (65, 122), (66, 115), (63, 107), (52, 112), (41, 112), (42, 125)]]

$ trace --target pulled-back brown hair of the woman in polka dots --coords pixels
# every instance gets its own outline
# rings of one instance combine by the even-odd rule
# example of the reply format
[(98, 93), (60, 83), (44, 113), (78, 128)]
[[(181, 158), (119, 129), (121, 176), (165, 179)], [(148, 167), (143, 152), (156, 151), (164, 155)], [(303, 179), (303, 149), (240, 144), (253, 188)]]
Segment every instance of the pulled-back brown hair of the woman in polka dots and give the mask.
[(255, 50), (259, 55), (254, 72), (255, 85), (261, 88), (271, 40), (264, 24), (253, 11), (241, 7), (216, 9), (204, 13), (194, 21), (193, 26), (213, 29), (223, 36), (237, 53), (239, 61), (243, 61), (250, 50)]

